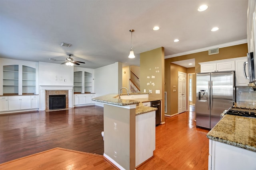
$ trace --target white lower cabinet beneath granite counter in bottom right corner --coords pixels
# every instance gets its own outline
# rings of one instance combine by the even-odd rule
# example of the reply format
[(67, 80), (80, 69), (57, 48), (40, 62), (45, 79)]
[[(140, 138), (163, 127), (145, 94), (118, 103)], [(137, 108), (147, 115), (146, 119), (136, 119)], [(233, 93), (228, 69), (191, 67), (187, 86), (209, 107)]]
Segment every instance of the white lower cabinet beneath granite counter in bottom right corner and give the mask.
[(256, 170), (256, 152), (209, 140), (208, 170)]

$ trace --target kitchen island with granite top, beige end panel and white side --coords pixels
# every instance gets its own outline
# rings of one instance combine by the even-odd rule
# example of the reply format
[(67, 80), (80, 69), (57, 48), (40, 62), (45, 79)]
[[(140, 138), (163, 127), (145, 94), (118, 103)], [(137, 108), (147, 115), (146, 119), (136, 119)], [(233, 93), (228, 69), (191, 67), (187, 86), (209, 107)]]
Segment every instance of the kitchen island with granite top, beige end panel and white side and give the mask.
[(116, 96), (92, 99), (104, 103), (104, 157), (121, 170), (135, 170), (153, 156), (156, 108)]

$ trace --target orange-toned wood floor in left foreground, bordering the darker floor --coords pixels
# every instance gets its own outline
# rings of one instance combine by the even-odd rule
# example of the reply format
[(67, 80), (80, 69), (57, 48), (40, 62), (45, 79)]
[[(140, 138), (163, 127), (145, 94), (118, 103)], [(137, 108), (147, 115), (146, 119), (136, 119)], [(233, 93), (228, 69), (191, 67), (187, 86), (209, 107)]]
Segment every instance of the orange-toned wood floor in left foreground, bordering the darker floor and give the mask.
[(118, 170), (102, 155), (54, 148), (0, 164), (1, 170)]

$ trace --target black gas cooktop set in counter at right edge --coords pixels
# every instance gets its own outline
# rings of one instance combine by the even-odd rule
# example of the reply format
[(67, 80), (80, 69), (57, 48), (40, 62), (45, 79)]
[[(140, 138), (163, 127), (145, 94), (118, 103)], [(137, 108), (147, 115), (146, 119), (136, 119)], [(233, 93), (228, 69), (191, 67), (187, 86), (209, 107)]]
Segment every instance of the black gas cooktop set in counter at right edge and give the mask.
[(230, 107), (230, 109), (228, 109), (225, 112), (228, 115), (238, 115), (238, 116), (256, 118), (256, 109), (248, 109), (248, 108), (241, 108), (241, 107)]

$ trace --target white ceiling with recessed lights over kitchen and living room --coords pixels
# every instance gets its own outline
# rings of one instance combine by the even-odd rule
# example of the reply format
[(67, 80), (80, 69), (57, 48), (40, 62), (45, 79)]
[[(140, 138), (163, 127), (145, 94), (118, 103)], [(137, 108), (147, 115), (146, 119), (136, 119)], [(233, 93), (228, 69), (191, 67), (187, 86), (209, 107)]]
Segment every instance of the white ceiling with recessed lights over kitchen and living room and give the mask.
[(170, 56), (246, 39), (247, 8), (248, 0), (0, 0), (0, 57), (62, 63), (49, 58), (72, 53), (85, 68), (139, 65), (140, 53), (158, 47)]

